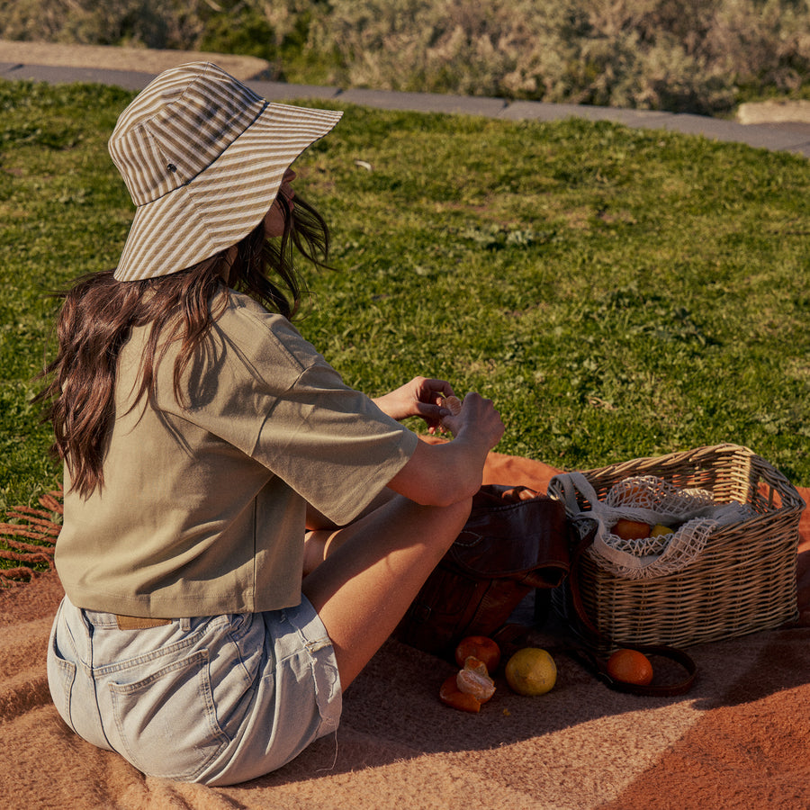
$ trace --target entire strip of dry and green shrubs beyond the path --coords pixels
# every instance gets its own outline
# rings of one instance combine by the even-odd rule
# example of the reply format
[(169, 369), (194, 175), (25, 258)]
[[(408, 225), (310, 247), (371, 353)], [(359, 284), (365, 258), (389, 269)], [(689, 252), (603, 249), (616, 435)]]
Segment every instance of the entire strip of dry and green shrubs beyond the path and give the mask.
[(0, 0), (0, 34), (244, 53), (293, 82), (674, 112), (810, 94), (808, 0)]

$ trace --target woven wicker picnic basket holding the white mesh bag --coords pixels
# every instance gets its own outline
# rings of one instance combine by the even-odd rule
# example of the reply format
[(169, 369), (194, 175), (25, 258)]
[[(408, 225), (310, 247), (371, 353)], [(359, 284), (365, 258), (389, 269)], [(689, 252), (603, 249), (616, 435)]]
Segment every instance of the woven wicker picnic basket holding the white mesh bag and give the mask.
[[(616, 643), (688, 646), (797, 617), (798, 523), (805, 502), (760, 456), (743, 446), (717, 445), (582, 473), (600, 501), (629, 476), (655, 475), (679, 488), (707, 490), (718, 503), (746, 504), (754, 513), (716, 528), (697, 559), (666, 576), (619, 578), (582, 554), (575, 587), (600, 635)], [(552, 489), (549, 494), (555, 496)], [(590, 509), (587, 502), (580, 506)], [(553, 604), (569, 624), (581, 626), (570, 582), (554, 591)]]

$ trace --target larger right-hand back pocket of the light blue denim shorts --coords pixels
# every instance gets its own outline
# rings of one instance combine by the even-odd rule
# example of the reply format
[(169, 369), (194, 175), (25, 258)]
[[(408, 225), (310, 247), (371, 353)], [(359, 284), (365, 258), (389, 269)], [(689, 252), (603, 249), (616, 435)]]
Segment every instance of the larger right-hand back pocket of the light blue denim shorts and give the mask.
[(214, 709), (208, 650), (109, 689), (121, 753), (148, 775), (192, 780), (229, 743)]

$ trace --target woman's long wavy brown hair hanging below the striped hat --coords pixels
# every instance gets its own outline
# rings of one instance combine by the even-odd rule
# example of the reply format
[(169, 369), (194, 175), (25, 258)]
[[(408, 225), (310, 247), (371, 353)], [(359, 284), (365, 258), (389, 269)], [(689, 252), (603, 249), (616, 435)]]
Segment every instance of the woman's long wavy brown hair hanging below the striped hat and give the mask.
[(227, 303), (223, 279), (285, 318), (299, 310), (305, 288), (293, 257), (301, 254), (315, 266), (327, 266), (329, 228), (310, 204), (296, 195), (295, 205), (277, 197), (284, 213), (284, 233), (265, 237), (264, 221), (238, 242), (228, 266), (227, 251), (179, 273), (146, 281), (119, 282), (113, 271), (86, 275), (67, 291), (56, 330), (58, 353), (42, 377), (49, 382), (34, 398), (46, 406), (53, 424), (53, 455), (67, 465), (71, 490), (86, 498), (103, 487), (103, 459), (115, 420), (115, 374), (121, 347), (135, 327), (150, 325), (141, 358), (135, 402), (155, 395), (157, 363), (168, 344), (180, 340), (175, 359), (175, 398), (180, 379), (202, 346), (211, 324)]

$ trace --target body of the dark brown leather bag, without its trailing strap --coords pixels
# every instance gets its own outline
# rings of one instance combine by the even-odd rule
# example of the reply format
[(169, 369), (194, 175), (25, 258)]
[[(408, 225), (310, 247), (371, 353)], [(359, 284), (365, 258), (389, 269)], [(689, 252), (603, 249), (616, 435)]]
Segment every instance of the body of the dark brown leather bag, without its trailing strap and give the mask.
[(394, 636), (452, 658), (467, 635), (495, 635), (534, 589), (568, 575), (568, 521), (563, 504), (528, 487), (489, 484)]

